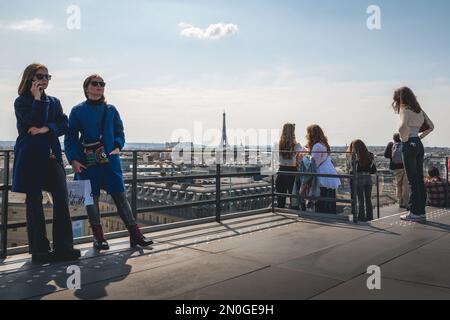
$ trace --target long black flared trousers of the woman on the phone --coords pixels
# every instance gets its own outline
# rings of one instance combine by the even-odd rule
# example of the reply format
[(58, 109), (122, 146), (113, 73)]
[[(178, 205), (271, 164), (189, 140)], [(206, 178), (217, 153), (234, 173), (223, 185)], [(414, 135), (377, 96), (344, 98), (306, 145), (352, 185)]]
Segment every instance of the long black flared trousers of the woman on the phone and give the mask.
[[(53, 249), (55, 252), (64, 252), (73, 248), (66, 172), (55, 159), (49, 159), (47, 172), (44, 189), (48, 190), (53, 198)], [(31, 254), (50, 250), (42, 199), (42, 192), (27, 193), (27, 232)]]

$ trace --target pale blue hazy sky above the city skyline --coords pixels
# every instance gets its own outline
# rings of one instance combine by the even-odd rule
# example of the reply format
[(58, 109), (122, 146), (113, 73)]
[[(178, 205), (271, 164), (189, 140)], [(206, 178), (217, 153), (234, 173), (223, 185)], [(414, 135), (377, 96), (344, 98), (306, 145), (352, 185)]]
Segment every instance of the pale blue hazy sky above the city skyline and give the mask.
[(218, 143), (225, 111), (238, 144), (292, 122), (302, 144), (316, 123), (332, 145), (385, 145), (407, 85), (436, 127), (424, 144), (450, 147), (449, 31), (448, 0), (1, 1), (0, 140), (40, 62), (67, 114), (102, 75), (128, 142)]

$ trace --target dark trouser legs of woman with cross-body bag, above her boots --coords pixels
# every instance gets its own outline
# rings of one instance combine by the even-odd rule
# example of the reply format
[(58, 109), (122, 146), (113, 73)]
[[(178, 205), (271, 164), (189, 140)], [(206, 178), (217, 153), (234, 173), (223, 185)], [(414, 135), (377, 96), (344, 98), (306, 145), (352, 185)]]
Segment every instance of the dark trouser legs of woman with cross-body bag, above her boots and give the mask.
[[(119, 213), (119, 216), (125, 226), (130, 228), (136, 225), (136, 220), (134, 219), (133, 212), (131, 211), (131, 206), (125, 192), (113, 193), (111, 197), (114, 200), (117, 207), (117, 212)], [(98, 199), (99, 196), (94, 196), (94, 204), (86, 207), (91, 227), (101, 225)]]

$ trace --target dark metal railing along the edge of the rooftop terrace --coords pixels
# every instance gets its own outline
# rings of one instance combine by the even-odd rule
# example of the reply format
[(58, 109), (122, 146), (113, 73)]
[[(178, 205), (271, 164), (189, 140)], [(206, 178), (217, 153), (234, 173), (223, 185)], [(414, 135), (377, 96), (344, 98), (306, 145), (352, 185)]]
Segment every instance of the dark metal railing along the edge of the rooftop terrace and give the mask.
[[(353, 183), (353, 190), (356, 190), (356, 183), (357, 178), (361, 174), (358, 174), (356, 167), (355, 167), (355, 155), (352, 155), (352, 168), (353, 168), (353, 174), (319, 174), (319, 173), (303, 173), (303, 172), (272, 172), (272, 173), (266, 173), (263, 174), (261, 172), (238, 172), (238, 173), (222, 173), (222, 166), (221, 164), (216, 164), (216, 172), (214, 174), (201, 174), (201, 175), (175, 175), (175, 176), (158, 176), (158, 177), (138, 177), (138, 153), (162, 153), (162, 152), (170, 152), (170, 149), (161, 149), (161, 150), (124, 150), (122, 153), (131, 153), (132, 154), (132, 178), (131, 179), (124, 179), (125, 184), (131, 185), (131, 208), (133, 215), (135, 218), (140, 213), (148, 213), (153, 211), (160, 211), (164, 209), (175, 209), (175, 208), (184, 208), (184, 207), (191, 207), (191, 206), (199, 206), (199, 205), (215, 205), (215, 221), (220, 222), (222, 213), (221, 213), (221, 204), (223, 202), (231, 202), (231, 201), (239, 201), (239, 200), (247, 200), (247, 199), (254, 199), (254, 198), (268, 198), (271, 199), (271, 206), (270, 210), (268, 208), (268, 211), (275, 212), (275, 197), (278, 196), (285, 196), (289, 198), (296, 197), (297, 199), (300, 198), (299, 195), (292, 195), (292, 194), (284, 194), (284, 193), (278, 193), (275, 192), (275, 175), (294, 175), (294, 176), (316, 176), (316, 177), (333, 177), (333, 178), (339, 178), (339, 179), (350, 179), (351, 183)], [(251, 152), (250, 150), (245, 150), (246, 154), (248, 152)], [(12, 150), (0, 150), (1, 153), (3, 153), (3, 160), (4, 160), (4, 170), (3, 170), (3, 184), (0, 186), (0, 191), (2, 192), (2, 219), (1, 219), (1, 258), (6, 258), (8, 253), (8, 230), (15, 229), (15, 228), (21, 228), (26, 227), (26, 222), (13, 222), (9, 223), (8, 221), (8, 209), (9, 209), (9, 192), (11, 191), (12, 185), (9, 184), (10, 180), (10, 160), (11, 160), (11, 154)], [(343, 152), (331, 152), (335, 154), (343, 154)], [(259, 150), (258, 150), (259, 154)], [(195, 156), (194, 152), (191, 152), (192, 157)], [(446, 159), (446, 164), (449, 163), (448, 157), (439, 157), (440, 159)], [(446, 176), (448, 181), (448, 165), (446, 166)], [(255, 176), (270, 176), (270, 187), (271, 192), (270, 193), (258, 193), (258, 194), (252, 194), (252, 195), (244, 195), (244, 196), (234, 196), (234, 197), (226, 197), (222, 198), (221, 196), (221, 179), (222, 178), (233, 178), (233, 177), (255, 177)], [(380, 217), (380, 180), (379, 178), (381, 175), (377, 174), (376, 177), (376, 196), (377, 196), (377, 216)], [(151, 207), (144, 207), (144, 208), (138, 208), (137, 207), (137, 197), (138, 197), (138, 184), (143, 184), (147, 182), (168, 182), (168, 181), (183, 181), (183, 180), (192, 180), (192, 179), (215, 179), (215, 199), (211, 200), (199, 200), (199, 201), (191, 201), (188, 203), (179, 203), (179, 204), (171, 204), (171, 205), (162, 205), (162, 206), (151, 206)], [(448, 192), (447, 192), (448, 196)], [(313, 201), (334, 201), (336, 203), (348, 203), (352, 205), (352, 214), (353, 214), (353, 221), (356, 223), (358, 222), (358, 214), (356, 212), (356, 192), (351, 192), (350, 200), (347, 199), (338, 199), (338, 198), (324, 198), (324, 197), (301, 197), (304, 200), (313, 200)], [(446, 199), (446, 206), (448, 207), (448, 198)], [(112, 217), (117, 216), (117, 212), (111, 211), (111, 212), (102, 212), (101, 217)], [(72, 221), (79, 221), (79, 220), (87, 220), (87, 215), (82, 216), (74, 216), (71, 217)], [(52, 223), (53, 219), (46, 219), (46, 223)]]

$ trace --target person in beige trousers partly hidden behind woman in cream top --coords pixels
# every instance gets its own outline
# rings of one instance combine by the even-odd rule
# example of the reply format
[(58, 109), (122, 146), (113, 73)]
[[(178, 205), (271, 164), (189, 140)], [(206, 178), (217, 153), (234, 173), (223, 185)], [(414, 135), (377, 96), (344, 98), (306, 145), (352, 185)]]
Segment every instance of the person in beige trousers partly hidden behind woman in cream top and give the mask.
[(389, 142), (384, 151), (384, 157), (389, 159), (389, 169), (392, 170), (397, 185), (397, 198), (399, 207), (408, 208), (409, 185), (403, 165), (402, 141), (400, 134), (394, 134), (394, 142)]

